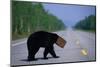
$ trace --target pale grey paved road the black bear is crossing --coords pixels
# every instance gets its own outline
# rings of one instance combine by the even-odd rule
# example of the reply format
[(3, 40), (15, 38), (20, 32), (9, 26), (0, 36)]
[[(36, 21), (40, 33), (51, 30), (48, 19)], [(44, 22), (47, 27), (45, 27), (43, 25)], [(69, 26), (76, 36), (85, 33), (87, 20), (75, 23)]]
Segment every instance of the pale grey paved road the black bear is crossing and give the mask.
[(95, 33), (83, 32), (68, 29), (65, 31), (54, 32), (63, 37), (67, 43), (64, 48), (60, 48), (54, 44), (55, 52), (59, 58), (52, 58), (48, 54), (49, 59), (43, 59), (44, 48), (40, 48), (36, 54), (37, 61), (27, 61), (27, 38), (12, 41), (11, 44), (11, 65), (37, 65), (48, 63), (67, 63), (67, 62), (83, 62), (95, 61)]

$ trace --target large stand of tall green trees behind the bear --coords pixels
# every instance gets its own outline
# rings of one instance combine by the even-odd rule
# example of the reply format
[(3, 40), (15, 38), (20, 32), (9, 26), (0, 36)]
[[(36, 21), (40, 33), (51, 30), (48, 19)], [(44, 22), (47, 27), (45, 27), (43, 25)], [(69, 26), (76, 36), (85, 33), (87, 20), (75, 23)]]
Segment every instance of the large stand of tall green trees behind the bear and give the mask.
[(52, 32), (62, 29), (65, 29), (63, 22), (46, 11), (41, 3), (12, 1), (12, 40), (39, 30)]

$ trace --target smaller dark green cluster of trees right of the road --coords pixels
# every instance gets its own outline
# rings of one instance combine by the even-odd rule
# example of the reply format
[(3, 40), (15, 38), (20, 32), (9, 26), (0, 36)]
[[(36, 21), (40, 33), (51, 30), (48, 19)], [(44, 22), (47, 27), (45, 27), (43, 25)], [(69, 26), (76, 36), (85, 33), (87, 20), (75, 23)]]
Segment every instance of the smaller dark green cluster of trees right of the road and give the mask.
[(95, 30), (96, 30), (96, 16), (90, 15), (88, 17), (85, 17), (85, 19), (80, 20), (74, 26), (74, 28), (95, 32)]

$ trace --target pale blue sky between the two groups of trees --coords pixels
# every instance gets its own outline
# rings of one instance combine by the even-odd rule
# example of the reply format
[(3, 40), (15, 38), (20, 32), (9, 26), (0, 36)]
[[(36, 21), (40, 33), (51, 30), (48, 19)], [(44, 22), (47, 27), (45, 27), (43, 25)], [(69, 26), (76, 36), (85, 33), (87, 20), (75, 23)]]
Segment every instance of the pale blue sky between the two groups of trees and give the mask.
[(95, 6), (44, 4), (45, 10), (61, 19), (66, 26), (73, 26), (86, 16), (95, 15)]

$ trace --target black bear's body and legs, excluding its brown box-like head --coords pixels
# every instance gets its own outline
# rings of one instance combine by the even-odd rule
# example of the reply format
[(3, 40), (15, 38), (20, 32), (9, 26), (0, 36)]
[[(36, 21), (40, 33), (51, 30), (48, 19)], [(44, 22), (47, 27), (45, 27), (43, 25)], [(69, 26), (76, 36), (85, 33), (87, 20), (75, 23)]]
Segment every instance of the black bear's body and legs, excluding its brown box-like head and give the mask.
[(44, 59), (47, 58), (47, 54), (50, 53), (54, 58), (58, 58), (54, 51), (53, 44), (57, 41), (59, 36), (55, 33), (49, 33), (45, 31), (38, 31), (32, 33), (27, 40), (28, 48), (28, 60), (36, 60), (35, 54), (38, 52), (40, 47), (44, 47)]

